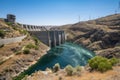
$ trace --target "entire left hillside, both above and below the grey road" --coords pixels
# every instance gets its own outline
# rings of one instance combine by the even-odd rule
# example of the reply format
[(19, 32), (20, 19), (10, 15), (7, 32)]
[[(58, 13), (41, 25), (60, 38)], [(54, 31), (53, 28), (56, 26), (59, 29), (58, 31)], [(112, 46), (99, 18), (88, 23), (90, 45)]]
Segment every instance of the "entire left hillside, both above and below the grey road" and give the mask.
[(0, 20), (0, 38), (26, 35), (21, 42), (0, 45), (0, 80), (12, 80), (46, 54), (49, 47), (31, 36), (18, 23)]

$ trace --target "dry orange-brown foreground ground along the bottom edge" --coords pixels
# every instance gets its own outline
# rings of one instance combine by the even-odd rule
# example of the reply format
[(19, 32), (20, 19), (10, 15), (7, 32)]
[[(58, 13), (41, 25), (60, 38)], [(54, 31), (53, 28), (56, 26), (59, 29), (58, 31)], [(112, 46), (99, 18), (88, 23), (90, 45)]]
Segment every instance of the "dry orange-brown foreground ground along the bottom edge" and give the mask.
[(64, 70), (57, 73), (38, 71), (26, 77), (26, 80), (120, 80), (120, 66), (116, 66), (113, 70), (105, 73), (82, 70), (80, 76), (67, 76)]

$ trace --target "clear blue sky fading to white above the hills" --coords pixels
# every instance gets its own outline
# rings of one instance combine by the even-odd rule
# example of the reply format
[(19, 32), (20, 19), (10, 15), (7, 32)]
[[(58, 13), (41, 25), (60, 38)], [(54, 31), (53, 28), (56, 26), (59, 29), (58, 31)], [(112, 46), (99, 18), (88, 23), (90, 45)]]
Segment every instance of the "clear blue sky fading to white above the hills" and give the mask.
[(31, 25), (65, 25), (114, 14), (120, 0), (0, 0), (0, 17)]

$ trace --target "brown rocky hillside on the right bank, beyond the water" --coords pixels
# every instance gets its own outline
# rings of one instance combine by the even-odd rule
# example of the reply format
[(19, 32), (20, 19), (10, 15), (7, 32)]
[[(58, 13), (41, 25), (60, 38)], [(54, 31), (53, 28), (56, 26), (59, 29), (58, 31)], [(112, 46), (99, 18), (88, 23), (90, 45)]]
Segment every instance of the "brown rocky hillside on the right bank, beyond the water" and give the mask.
[(67, 40), (82, 44), (96, 54), (120, 58), (120, 14), (59, 27)]

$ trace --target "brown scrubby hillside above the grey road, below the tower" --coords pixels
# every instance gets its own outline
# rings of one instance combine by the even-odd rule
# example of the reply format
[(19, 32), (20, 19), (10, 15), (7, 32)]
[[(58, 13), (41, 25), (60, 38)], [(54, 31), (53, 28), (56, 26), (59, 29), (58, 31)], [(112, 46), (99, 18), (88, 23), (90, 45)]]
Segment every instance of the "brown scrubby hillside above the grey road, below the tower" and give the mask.
[(21, 29), (20, 24), (12, 24), (10, 22), (4, 22), (0, 19), (0, 37), (12, 38), (19, 37), (25, 34), (25, 30)]

